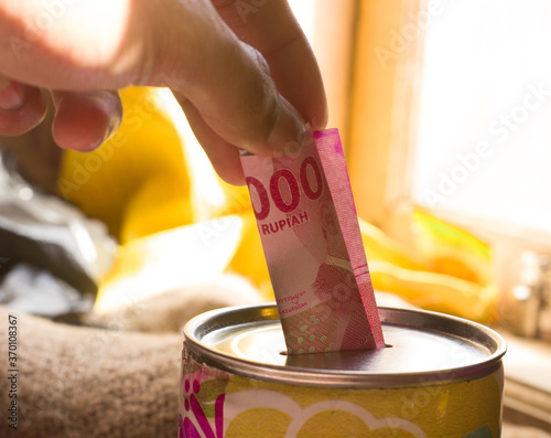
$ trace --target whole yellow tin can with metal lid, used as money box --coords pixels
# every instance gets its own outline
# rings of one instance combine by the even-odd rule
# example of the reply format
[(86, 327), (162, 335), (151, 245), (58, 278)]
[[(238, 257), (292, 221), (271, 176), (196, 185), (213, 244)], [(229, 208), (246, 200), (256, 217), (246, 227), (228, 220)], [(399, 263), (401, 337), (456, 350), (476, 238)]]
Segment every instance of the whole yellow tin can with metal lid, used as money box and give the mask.
[(379, 314), (386, 348), (302, 355), (287, 355), (276, 306), (194, 318), (184, 329), (180, 436), (499, 437), (504, 339), (435, 312)]

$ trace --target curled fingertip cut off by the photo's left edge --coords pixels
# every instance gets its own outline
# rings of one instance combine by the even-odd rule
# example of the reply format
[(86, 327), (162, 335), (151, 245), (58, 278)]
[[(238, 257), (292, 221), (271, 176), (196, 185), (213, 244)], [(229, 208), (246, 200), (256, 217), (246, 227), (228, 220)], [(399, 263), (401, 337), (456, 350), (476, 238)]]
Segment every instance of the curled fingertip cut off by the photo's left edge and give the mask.
[(46, 103), (36, 87), (0, 76), (0, 135), (19, 136), (39, 125)]

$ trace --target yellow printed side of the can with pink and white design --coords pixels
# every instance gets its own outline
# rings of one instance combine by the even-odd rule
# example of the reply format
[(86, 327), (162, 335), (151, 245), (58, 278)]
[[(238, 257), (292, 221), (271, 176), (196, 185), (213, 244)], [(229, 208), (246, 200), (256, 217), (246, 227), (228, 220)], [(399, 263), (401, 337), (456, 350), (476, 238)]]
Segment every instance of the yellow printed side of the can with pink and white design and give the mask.
[[(208, 438), (498, 438), (503, 366), (490, 375), (396, 388), (337, 389), (182, 365), (180, 436)], [(321, 382), (323, 385), (323, 382)]]

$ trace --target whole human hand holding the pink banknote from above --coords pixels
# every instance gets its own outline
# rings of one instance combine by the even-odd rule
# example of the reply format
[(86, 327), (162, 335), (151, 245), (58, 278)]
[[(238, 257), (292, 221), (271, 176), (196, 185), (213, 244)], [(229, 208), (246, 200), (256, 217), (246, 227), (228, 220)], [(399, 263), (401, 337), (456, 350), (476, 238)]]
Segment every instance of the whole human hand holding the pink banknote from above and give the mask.
[(120, 122), (117, 89), (169, 86), (218, 174), (239, 184), (237, 148), (278, 154), (304, 120), (326, 124), (316, 62), (284, 0), (45, 4), (0, 0), (0, 135), (36, 126), (47, 89), (57, 145), (90, 150)]

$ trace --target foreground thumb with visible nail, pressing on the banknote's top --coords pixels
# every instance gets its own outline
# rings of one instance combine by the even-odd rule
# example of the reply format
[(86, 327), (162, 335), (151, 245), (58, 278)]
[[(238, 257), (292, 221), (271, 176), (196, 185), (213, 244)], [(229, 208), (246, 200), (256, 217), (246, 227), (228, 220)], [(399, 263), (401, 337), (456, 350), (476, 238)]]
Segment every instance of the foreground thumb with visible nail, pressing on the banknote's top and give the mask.
[(278, 153), (303, 135), (304, 120), (281, 98), (256, 50), (230, 34), (218, 38), (210, 52), (191, 66), (191, 83), (172, 87), (180, 102), (191, 100), (219, 137), (252, 153)]

